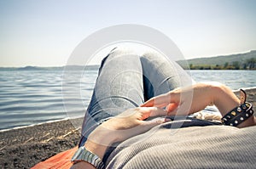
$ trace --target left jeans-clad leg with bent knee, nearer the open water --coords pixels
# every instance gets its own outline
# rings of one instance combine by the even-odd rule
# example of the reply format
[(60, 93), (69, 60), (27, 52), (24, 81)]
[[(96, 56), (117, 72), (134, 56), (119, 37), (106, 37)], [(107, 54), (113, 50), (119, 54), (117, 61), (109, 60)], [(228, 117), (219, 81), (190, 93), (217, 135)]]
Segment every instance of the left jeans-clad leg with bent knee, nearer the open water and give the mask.
[(139, 55), (113, 49), (102, 60), (90, 105), (84, 116), (79, 146), (102, 121), (143, 104), (143, 68)]

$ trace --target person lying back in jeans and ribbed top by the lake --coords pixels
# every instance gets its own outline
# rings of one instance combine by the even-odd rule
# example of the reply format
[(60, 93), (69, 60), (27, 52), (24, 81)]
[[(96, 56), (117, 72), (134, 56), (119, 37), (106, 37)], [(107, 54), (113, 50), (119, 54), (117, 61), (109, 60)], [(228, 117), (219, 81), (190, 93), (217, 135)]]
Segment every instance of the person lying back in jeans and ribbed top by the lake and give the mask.
[[(255, 146), (256, 121), (244, 101), (222, 84), (193, 82), (160, 53), (114, 48), (102, 60), (72, 168), (250, 168), (255, 151), (241, 150)], [(189, 117), (201, 110), (223, 122)]]

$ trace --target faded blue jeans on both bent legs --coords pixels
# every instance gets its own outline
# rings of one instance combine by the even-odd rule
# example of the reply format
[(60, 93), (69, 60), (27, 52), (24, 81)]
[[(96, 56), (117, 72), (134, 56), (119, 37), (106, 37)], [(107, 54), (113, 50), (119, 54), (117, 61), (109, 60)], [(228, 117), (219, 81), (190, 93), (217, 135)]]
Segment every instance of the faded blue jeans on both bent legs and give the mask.
[(138, 107), (156, 95), (192, 83), (191, 77), (163, 54), (153, 50), (138, 54), (131, 48), (113, 48), (102, 60), (79, 146), (84, 145), (90, 132), (102, 121)]

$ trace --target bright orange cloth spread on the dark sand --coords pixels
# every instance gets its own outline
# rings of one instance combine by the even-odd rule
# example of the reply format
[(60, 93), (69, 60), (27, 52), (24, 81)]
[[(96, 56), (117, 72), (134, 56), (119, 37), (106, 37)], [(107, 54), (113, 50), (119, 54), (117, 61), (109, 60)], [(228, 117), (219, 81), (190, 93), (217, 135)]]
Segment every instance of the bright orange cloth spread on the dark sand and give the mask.
[(33, 166), (32, 169), (46, 169), (46, 168), (61, 168), (66, 169), (72, 166), (71, 158), (78, 147), (73, 149), (68, 149), (67, 151), (61, 152), (57, 155), (54, 155), (47, 159), (46, 161), (39, 162), (36, 166)]

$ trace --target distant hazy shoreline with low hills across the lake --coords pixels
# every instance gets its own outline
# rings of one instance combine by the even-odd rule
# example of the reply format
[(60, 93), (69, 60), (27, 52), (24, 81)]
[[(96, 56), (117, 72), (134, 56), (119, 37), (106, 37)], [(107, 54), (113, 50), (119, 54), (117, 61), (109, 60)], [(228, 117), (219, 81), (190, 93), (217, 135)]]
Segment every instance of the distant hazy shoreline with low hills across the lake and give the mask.
[[(176, 60), (185, 70), (256, 70), (256, 50), (247, 53), (218, 55), (195, 59)], [(84, 70), (84, 67), (99, 68), (100, 65), (62, 65), (62, 66), (34, 66), (20, 67), (6, 66), (0, 70)]]

